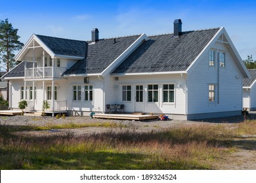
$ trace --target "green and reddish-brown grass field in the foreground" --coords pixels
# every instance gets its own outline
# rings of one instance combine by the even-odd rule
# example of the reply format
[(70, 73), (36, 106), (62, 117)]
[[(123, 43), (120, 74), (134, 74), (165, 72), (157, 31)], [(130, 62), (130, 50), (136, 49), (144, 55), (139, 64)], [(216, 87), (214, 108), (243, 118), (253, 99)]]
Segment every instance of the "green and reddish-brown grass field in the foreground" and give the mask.
[[(48, 125), (47, 129), (72, 127), (87, 125)], [(72, 133), (50, 137), (14, 133), (43, 129), (0, 125), (0, 169), (212, 169), (212, 163), (223, 154), (236, 151), (232, 139), (256, 134), (256, 122), (230, 128), (188, 125), (151, 133), (137, 133), (127, 127), (122, 133), (82, 137)]]

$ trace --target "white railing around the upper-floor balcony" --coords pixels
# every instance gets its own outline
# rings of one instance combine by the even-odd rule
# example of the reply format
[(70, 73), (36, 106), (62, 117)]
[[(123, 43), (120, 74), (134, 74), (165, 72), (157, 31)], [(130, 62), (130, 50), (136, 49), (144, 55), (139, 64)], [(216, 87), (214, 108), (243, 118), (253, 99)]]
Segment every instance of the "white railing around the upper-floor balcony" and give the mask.
[[(26, 78), (55, 78), (60, 77), (66, 67), (35, 67), (26, 69)], [(53, 75), (54, 73), (54, 75)]]

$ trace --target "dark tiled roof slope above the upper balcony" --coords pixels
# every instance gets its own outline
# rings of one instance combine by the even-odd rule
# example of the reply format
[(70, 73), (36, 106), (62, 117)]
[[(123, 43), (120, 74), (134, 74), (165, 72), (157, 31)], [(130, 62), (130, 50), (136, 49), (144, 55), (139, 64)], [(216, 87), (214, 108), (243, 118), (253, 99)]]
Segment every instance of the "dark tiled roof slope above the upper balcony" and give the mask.
[(56, 55), (85, 57), (87, 50), (86, 41), (49, 37), (36, 35), (43, 41)]

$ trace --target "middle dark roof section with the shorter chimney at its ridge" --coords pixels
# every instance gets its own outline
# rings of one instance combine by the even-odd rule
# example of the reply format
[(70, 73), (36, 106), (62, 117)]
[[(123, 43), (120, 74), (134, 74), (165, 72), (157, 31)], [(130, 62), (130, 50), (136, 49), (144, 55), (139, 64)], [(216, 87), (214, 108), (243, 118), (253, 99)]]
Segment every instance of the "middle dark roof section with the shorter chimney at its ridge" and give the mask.
[(77, 61), (63, 75), (101, 73), (120, 56), (140, 35), (117, 37), (114, 39), (100, 39), (95, 44), (88, 44), (87, 57)]

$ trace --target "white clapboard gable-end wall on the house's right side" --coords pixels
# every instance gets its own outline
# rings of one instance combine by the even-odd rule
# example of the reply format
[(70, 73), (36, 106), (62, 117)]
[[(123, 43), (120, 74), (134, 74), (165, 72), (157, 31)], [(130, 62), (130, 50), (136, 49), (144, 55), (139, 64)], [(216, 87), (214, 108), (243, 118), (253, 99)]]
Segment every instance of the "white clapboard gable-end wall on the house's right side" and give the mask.
[[(188, 114), (242, 110), (242, 74), (224, 44), (213, 46), (226, 54), (225, 67), (219, 67), (219, 93), (215, 102), (208, 101), (208, 84), (218, 84), (217, 62), (209, 67), (207, 50), (197, 67), (188, 75)], [(219, 103), (218, 103), (219, 94)]]

